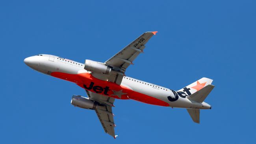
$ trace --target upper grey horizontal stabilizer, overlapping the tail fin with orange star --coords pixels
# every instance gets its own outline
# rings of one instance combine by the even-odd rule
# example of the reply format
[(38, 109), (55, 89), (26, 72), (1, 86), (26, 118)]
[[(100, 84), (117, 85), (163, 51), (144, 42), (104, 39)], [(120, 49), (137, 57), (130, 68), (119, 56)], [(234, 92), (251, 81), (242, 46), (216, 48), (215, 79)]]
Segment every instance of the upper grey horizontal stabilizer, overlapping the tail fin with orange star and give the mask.
[[(204, 102), (205, 98), (210, 94), (211, 90), (214, 88), (214, 85), (207, 85), (206, 87), (200, 89), (199, 91), (191, 94), (189, 97), (187, 97), (189, 100), (195, 101), (195, 102)], [(189, 113), (190, 114), (190, 113)]]

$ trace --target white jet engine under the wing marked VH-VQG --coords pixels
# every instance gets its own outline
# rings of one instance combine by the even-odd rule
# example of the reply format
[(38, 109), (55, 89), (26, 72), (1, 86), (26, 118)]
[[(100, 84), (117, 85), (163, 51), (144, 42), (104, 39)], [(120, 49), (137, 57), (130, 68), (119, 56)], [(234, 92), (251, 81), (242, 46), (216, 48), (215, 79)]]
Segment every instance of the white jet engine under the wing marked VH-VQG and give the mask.
[(92, 61), (89, 59), (85, 60), (84, 69), (91, 72), (103, 74), (109, 74), (111, 72), (111, 68), (109, 68), (109, 66), (106, 66), (104, 63), (99, 63), (97, 61)]

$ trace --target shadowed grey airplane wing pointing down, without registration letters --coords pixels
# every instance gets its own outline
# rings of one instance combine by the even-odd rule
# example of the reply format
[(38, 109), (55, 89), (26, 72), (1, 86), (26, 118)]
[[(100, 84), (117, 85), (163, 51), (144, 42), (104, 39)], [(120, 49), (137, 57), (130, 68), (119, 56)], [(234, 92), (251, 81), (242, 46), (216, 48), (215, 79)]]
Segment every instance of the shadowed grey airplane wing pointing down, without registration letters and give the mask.
[(113, 118), (114, 114), (112, 113), (112, 107), (113, 107), (115, 98), (103, 96), (101, 94), (97, 94), (87, 90), (86, 92), (89, 97), (89, 100), (93, 100), (100, 103), (97, 109), (95, 109), (95, 112), (100, 120), (100, 123), (102, 124), (104, 131), (109, 135), (111, 135), (112, 137), (116, 138), (117, 135), (115, 135), (115, 130), (114, 130), (114, 127), (115, 127), (114, 118)]

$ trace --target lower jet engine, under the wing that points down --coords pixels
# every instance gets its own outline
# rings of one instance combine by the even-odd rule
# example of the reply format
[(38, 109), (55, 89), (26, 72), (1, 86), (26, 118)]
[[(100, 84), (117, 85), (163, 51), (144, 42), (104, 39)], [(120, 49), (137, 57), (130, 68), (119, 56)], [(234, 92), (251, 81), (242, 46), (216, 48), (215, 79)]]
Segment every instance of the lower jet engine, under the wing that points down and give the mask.
[(81, 107), (83, 109), (96, 109), (98, 104), (89, 100), (88, 98), (73, 95), (71, 99), (71, 104), (75, 107)]

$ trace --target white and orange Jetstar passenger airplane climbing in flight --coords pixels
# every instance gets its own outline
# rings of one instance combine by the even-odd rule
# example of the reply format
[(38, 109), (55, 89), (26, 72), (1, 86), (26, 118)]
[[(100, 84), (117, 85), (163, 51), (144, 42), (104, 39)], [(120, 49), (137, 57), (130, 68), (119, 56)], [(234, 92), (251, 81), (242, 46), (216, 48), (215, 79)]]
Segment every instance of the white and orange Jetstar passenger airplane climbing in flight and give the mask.
[(125, 75), (128, 66), (134, 65), (135, 58), (144, 53), (145, 44), (156, 33), (143, 33), (104, 63), (89, 59), (79, 63), (48, 54), (27, 57), (24, 63), (38, 72), (73, 82), (85, 89), (88, 97), (73, 95), (71, 104), (94, 110), (104, 131), (114, 138), (117, 137), (112, 113), (115, 99), (185, 108), (192, 120), (199, 123), (200, 109), (211, 109), (204, 100), (214, 88), (212, 79), (201, 78), (176, 91)]

